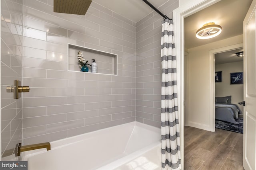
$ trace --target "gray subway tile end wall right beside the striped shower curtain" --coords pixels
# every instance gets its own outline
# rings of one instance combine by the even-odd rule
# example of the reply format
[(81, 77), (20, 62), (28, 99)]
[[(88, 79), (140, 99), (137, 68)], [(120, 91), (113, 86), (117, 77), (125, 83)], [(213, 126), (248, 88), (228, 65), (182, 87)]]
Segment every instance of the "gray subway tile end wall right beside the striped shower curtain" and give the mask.
[[(160, 7), (172, 18), (178, 0)], [(136, 24), (136, 121), (161, 127), (161, 25), (162, 17), (148, 14)]]

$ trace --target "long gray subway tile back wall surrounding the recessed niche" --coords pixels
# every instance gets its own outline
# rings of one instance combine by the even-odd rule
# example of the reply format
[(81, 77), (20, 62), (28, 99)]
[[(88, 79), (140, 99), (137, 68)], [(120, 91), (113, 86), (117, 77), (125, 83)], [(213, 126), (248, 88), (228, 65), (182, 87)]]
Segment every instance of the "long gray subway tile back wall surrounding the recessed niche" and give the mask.
[[(23, 145), (135, 121), (136, 24), (95, 2), (85, 16), (53, 13), (49, 0), (23, 7)], [(79, 72), (68, 43), (118, 54), (118, 75)], [(112, 58), (88, 55), (112, 74)]]

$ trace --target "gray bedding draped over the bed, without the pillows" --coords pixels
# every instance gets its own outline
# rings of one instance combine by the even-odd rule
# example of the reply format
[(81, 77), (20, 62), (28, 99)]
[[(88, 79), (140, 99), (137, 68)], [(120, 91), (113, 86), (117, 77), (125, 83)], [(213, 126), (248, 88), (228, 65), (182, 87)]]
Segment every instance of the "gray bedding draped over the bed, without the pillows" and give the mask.
[(242, 111), (236, 104), (215, 104), (215, 119), (238, 124), (235, 120), (238, 114), (242, 114)]

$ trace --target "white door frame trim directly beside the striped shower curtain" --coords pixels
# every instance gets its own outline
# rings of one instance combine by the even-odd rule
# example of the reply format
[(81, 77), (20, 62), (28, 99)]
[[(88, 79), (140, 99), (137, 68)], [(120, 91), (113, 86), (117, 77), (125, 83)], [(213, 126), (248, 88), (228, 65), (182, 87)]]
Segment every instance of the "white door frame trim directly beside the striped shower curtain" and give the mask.
[(178, 85), (178, 110), (180, 119), (180, 150), (181, 150), (181, 165), (184, 169), (184, 18), (190, 16), (220, 0), (188, 0), (184, 5), (173, 11), (174, 20), (174, 42), (176, 43), (177, 56), (177, 85)]

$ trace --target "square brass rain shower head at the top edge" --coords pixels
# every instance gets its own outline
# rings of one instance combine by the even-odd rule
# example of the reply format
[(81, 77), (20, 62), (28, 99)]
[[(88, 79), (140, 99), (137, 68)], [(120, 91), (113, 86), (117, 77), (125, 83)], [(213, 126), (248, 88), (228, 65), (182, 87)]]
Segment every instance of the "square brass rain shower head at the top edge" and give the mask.
[(92, 0), (54, 0), (53, 12), (85, 15)]

